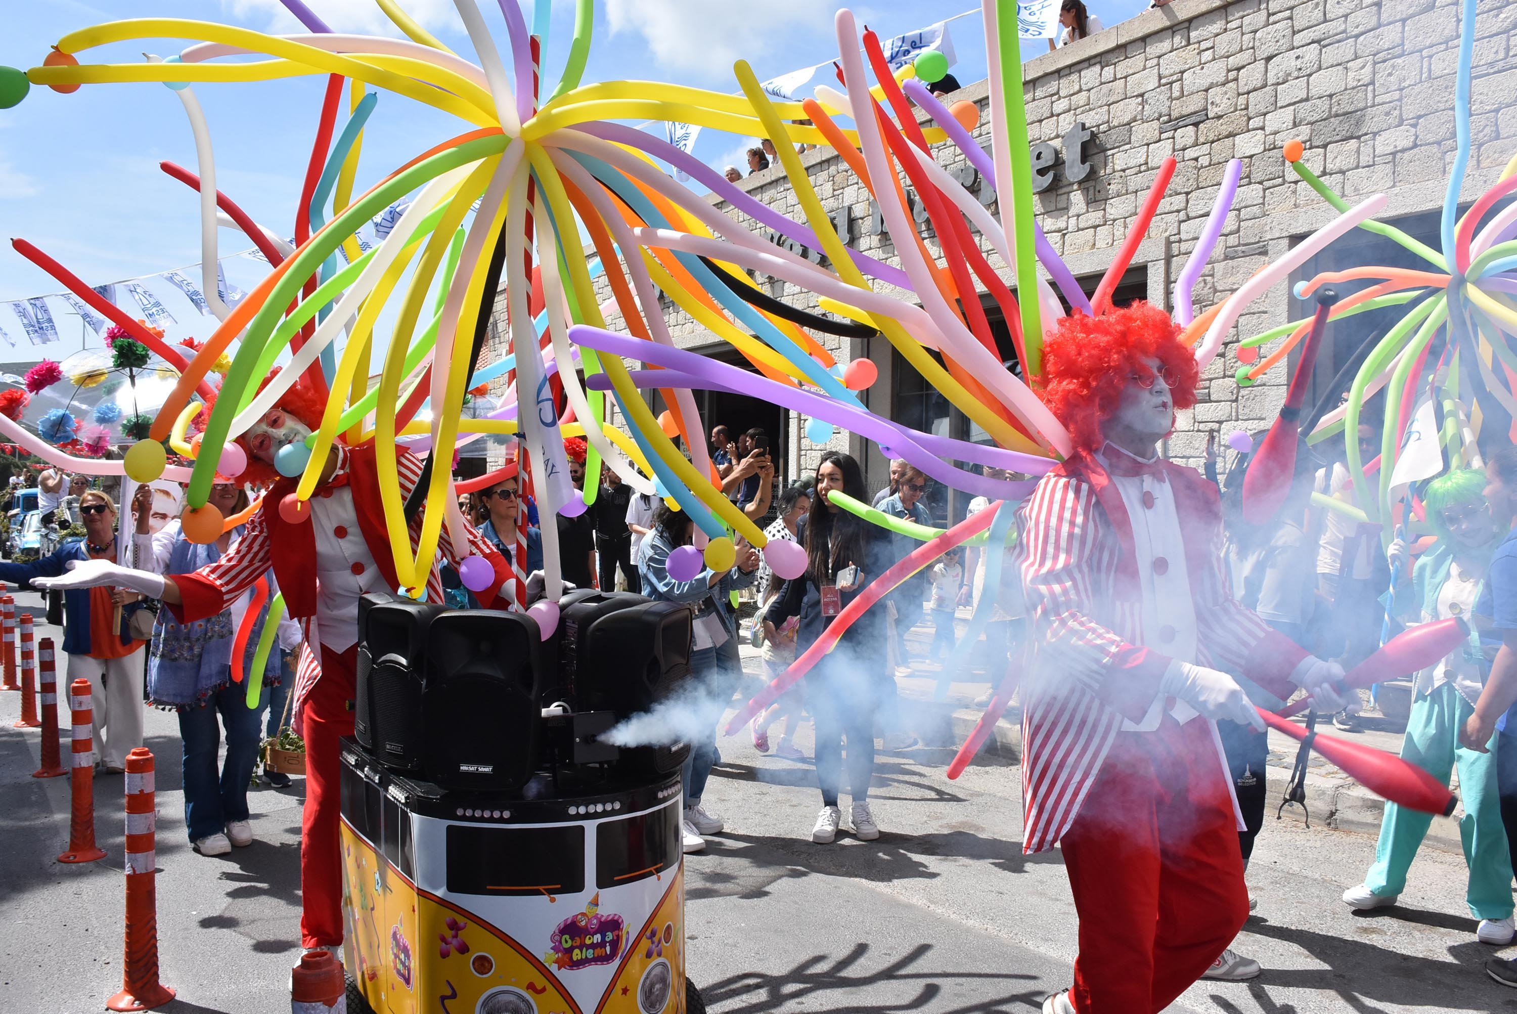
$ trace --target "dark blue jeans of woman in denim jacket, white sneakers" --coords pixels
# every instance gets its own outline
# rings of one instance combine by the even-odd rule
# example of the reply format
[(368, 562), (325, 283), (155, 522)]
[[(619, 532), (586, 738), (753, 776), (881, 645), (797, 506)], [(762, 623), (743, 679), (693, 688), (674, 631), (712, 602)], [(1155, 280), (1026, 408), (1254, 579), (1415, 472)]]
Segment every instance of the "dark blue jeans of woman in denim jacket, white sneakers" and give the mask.
[[(179, 712), (190, 841), (220, 835), (226, 824), (247, 820), (247, 783), (258, 760), (262, 709), (267, 706), (269, 688), (264, 688), (258, 707), (249, 707), (246, 685), (232, 683), (206, 698), (205, 707)], [(221, 716), (220, 724), (217, 715)], [(226, 760), (217, 774), (221, 726), (226, 726)]]

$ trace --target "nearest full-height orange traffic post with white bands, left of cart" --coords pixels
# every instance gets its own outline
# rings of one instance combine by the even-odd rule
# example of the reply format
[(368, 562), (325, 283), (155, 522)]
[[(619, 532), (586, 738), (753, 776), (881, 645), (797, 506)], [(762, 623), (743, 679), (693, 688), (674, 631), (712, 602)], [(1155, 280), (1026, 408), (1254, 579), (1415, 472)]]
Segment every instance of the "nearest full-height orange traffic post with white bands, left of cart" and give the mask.
[(121, 991), (108, 1011), (150, 1011), (174, 999), (158, 981), (158, 847), (153, 824), (153, 751), (126, 754), (126, 961)]

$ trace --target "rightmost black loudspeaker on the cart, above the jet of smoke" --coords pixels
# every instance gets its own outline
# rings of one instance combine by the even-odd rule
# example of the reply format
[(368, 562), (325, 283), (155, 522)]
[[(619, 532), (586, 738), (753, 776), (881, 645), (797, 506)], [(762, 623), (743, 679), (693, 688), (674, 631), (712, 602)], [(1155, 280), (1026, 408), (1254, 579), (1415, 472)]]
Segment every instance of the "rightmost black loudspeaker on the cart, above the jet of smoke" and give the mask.
[[(690, 675), (690, 607), (643, 603), (596, 619), (578, 645), (576, 701), (581, 710), (619, 718), (655, 707)], [(627, 762), (658, 773), (675, 771), (687, 744), (634, 747)]]

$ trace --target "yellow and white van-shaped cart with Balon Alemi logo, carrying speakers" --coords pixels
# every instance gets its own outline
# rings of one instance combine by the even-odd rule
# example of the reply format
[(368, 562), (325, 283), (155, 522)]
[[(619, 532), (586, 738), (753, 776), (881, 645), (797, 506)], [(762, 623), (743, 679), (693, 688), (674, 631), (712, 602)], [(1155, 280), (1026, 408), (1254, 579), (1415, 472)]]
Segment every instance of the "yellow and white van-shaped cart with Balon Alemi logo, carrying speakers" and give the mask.
[[(607, 612), (613, 597), (589, 598), (592, 610)], [(569, 600), (563, 613), (560, 641), (583, 633)], [(475, 624), (505, 616), (466, 615)], [(444, 779), (454, 782), (444, 788), (429, 780), (444, 764), (440, 748), (428, 754), (423, 742), (428, 756), (413, 765), (422, 771), (397, 771), (393, 723), (387, 730), (378, 710), (366, 713), (366, 695), (384, 698), (384, 669), (399, 662), (375, 662), (376, 653), (361, 647), (358, 686), (358, 726), (375, 745), (360, 736), (341, 750), (349, 1014), (704, 1014), (686, 979), (684, 750), (602, 744), (616, 712), (576, 712), (563, 698), (586, 694), (546, 686), (534, 697), (554, 701), (534, 715), (537, 757), (529, 774), (511, 779), (520, 785), (481, 791)], [(573, 657), (575, 648), (560, 654)], [(554, 660), (542, 665), (557, 669)], [(423, 683), (440, 680), (438, 659), (428, 659), (426, 672)], [(510, 726), (498, 735), (520, 739)]]

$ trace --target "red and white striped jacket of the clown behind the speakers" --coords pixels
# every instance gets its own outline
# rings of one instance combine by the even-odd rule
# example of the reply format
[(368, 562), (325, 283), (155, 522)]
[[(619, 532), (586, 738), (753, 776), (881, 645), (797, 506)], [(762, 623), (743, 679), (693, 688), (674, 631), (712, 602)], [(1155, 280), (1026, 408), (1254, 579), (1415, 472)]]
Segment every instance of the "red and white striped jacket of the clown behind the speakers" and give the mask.
[[(338, 460), (337, 471), (331, 483), (347, 483), (353, 493), (353, 510), (358, 515), (358, 527), (363, 531), (364, 543), (370, 556), (384, 574), (390, 587), (397, 587), (399, 578), (394, 572), (394, 550), (390, 546), (390, 536), (384, 522), (384, 509), (379, 499), (379, 475), (375, 468), (373, 443), (356, 448), (335, 446)], [(405, 448), (396, 449), (396, 472), (400, 481), (400, 498), (411, 495), (416, 483), (422, 478), (423, 461)], [(176, 574), (174, 584), (179, 587), (179, 604), (170, 604), (179, 622), (205, 619), (228, 609), (237, 598), (262, 577), (270, 566), (279, 580), (279, 590), (285, 598), (285, 610), (291, 619), (299, 619), (305, 630), (305, 647), (300, 651), (300, 666), (294, 683), (294, 727), (300, 729), (300, 709), (309, 695), (316, 680), (322, 675), (320, 645), (313, 642), (311, 621), (317, 606), (317, 554), (316, 533), (311, 528), (309, 516), (300, 522), (290, 522), (279, 516), (279, 501), (293, 493), (296, 487), (293, 478), (281, 478), (264, 495), (264, 505), (247, 521), (243, 536), (228, 546), (226, 554), (215, 563), (200, 568), (194, 574)], [(410, 553), (416, 553), (422, 534), (422, 513), (411, 519)], [(448, 536), (448, 527), (438, 540), (443, 559), (454, 566), (470, 554), (482, 556), (495, 568), (496, 583), (501, 587), (513, 577), (511, 565), (496, 551), (488, 539), (475, 531), (473, 525), (464, 522), (467, 528), (467, 546), (460, 551)], [(432, 560), (426, 577), (426, 601), (441, 603), (443, 583)], [(510, 609), (510, 601), (495, 598), (484, 603), (487, 609)]]

